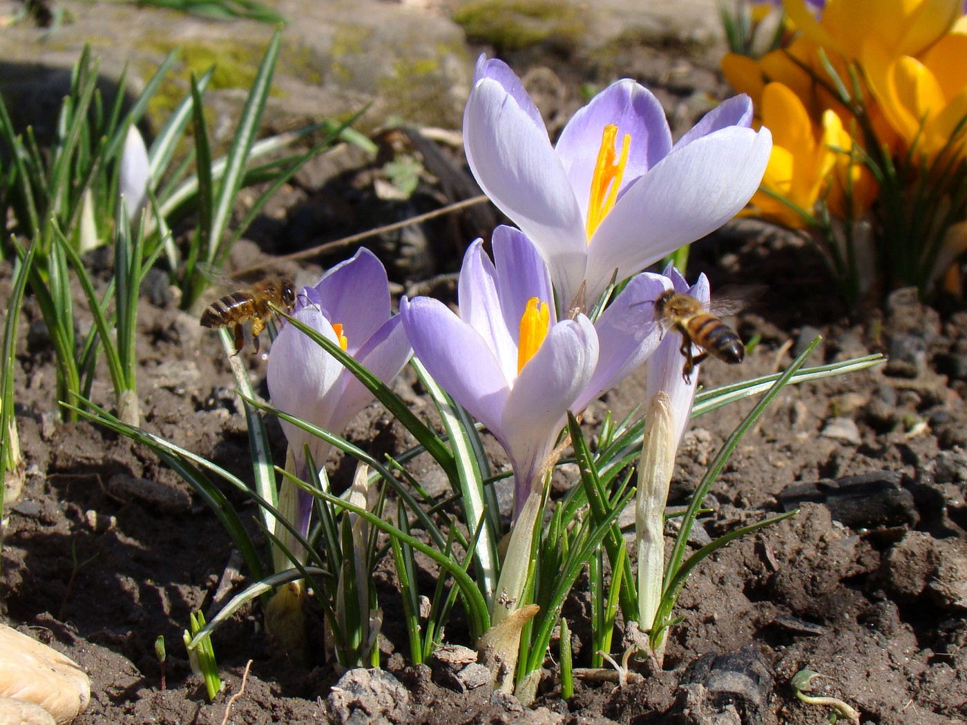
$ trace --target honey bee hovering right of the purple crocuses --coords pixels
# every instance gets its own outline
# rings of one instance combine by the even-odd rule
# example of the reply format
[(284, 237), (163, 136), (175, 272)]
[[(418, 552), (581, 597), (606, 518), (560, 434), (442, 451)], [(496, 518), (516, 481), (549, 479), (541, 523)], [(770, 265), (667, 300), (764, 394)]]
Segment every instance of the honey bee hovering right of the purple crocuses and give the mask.
[[(685, 356), (682, 377), (686, 383), (691, 382), (695, 365), (709, 355), (732, 365), (745, 359), (746, 348), (739, 335), (718, 319), (718, 315), (737, 312), (750, 297), (757, 294), (761, 294), (760, 289), (739, 290), (739, 294), (716, 300), (709, 308), (695, 298), (672, 289), (665, 290), (658, 296), (654, 303), (655, 319), (659, 321), (662, 330), (674, 330), (682, 335), (681, 352)], [(703, 352), (693, 354), (692, 345), (703, 348)]]

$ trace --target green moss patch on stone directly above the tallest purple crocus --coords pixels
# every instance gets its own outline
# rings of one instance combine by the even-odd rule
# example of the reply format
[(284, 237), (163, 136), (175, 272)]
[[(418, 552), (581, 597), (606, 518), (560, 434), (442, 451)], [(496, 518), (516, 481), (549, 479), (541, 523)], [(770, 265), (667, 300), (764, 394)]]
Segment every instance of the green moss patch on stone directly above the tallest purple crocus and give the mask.
[(554, 0), (473, 0), (454, 13), (467, 38), (497, 53), (540, 43), (571, 46), (582, 32), (578, 9)]

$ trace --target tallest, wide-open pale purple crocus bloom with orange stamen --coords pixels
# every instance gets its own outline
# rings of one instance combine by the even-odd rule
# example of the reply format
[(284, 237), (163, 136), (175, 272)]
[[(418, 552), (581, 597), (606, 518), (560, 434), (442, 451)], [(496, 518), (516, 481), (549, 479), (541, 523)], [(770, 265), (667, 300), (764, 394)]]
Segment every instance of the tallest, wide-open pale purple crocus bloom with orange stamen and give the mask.
[(595, 301), (734, 217), (762, 180), (772, 136), (747, 96), (722, 102), (678, 143), (661, 104), (630, 79), (574, 114), (552, 147), (537, 106), (502, 61), (481, 56), (463, 115), (484, 192), (534, 242), (562, 305)]

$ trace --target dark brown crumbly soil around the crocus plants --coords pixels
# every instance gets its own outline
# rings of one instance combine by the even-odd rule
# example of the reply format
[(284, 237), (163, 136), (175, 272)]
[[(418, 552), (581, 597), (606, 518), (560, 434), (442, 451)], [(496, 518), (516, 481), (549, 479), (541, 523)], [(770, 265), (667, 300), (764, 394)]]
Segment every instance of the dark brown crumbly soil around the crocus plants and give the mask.
[[(659, 54), (632, 47), (628, 58), (620, 60), (622, 74), (652, 87), (662, 78), (667, 81), (661, 68), (688, 63), (698, 77), (711, 78), (710, 87), (699, 91), (722, 92), (709, 62), (677, 55), (674, 48)], [(534, 62), (522, 58), (512, 65), (523, 73), (529, 61)], [(569, 96), (567, 89), (589, 79), (603, 82), (608, 73), (578, 67), (580, 73), (571, 66), (568, 72), (556, 69), (566, 81), (565, 116), (577, 104), (576, 91)], [(694, 84), (675, 88), (666, 83), (659, 94), (667, 107), (680, 109), (682, 102), (698, 97), (695, 90)], [(324, 170), (320, 173), (325, 176)], [(279, 202), (281, 214), (267, 216), (250, 236), (275, 252), (314, 243), (311, 234), (296, 234), (305, 228), (306, 215), (313, 214), (314, 222), (331, 220), (320, 218), (327, 212), (319, 211), (331, 199), (340, 205), (329, 214), (344, 215), (347, 207), (359, 213), (372, 202), (359, 191), (367, 174), (354, 169), (349, 176), (330, 177), (328, 184), (289, 188)], [(384, 206), (384, 217), (405, 211)], [(371, 214), (359, 218), (357, 229), (372, 225)], [(437, 251), (432, 274), (455, 269), (460, 249), (470, 241), (445, 236), (453, 230), (444, 224), (419, 232)], [(393, 244), (398, 249), (406, 242), (396, 239)], [(243, 244), (235, 264), (246, 267), (258, 253), (254, 245)], [(398, 281), (423, 278), (394, 266), (398, 256), (385, 256)], [(298, 271), (307, 281), (318, 274), (318, 268), (285, 270)], [(705, 531), (720, 535), (782, 510), (783, 504), (801, 504), (802, 510), (730, 544), (699, 566), (679, 599), (676, 614), (683, 621), (672, 631), (663, 671), (620, 688), (609, 682), (579, 683), (574, 697), (564, 702), (554, 680), (556, 665), (548, 658), (537, 710), (522, 710), (513, 699), (485, 687), (457, 692), (440, 671), (409, 667), (399, 653), (406, 651), (403, 633), (398, 623), (388, 621), (384, 665), (404, 686), (402, 694), (387, 710), (340, 710), (330, 695), (337, 681), (334, 669), (321, 654), (313, 669), (297, 669), (275, 654), (261, 613), (252, 608), (214, 637), (226, 687), (208, 704), (200, 681), (190, 675), (180, 639), (190, 611), (210, 614), (222, 572), (231, 569), (230, 542), (211, 510), (148, 451), (86, 422), (56, 420), (50, 346), (30, 300), (15, 370), (28, 476), (5, 528), (3, 620), (67, 653), (90, 674), (93, 699), (75, 721), (78, 725), (220, 723), (229, 697), (239, 692), (249, 659), (245, 692), (231, 705), (230, 722), (312, 723), (327, 717), (368, 722), (383, 717), (448, 725), (806, 725), (822, 722), (830, 710), (796, 699), (789, 681), (805, 667), (824, 676), (813, 681), (814, 694), (847, 701), (862, 712), (864, 722), (964, 722), (967, 312), (962, 305), (938, 312), (900, 292), (881, 315), (850, 322), (810, 246), (750, 223), (732, 224), (696, 245), (689, 276), (699, 271), (712, 277), (714, 288), (733, 281), (770, 286), (762, 304), (737, 323), (744, 338), (761, 335), (760, 344), (739, 368), (704, 365), (707, 387), (772, 372), (817, 332), (825, 341), (810, 363), (875, 351), (891, 353), (892, 361), (787, 389), (744, 439), (708, 498), (714, 513), (702, 521)], [(9, 297), (9, 289), (5, 267), (0, 299)], [(89, 324), (82, 312), (79, 319)], [(217, 338), (198, 327), (196, 313), (148, 297), (141, 301), (139, 333), (143, 426), (249, 478), (245, 419)], [(248, 354), (246, 360), (261, 384), (264, 360)], [(93, 395), (110, 405), (106, 380), (104, 371)], [(424, 406), (412, 390), (414, 382), (404, 374), (397, 388), (408, 392), (414, 405)], [(606, 396), (595, 409), (597, 418), (605, 407), (617, 416), (626, 414), (641, 402), (643, 391), (643, 375), (633, 376)], [(693, 421), (679, 453), (672, 505), (687, 500), (750, 405), (735, 404)], [(281, 460), (284, 441), (278, 425), (270, 430)], [(393, 449), (403, 436), (375, 405), (347, 433), (373, 452)], [(347, 480), (348, 466), (335, 461), (331, 470), (337, 485)], [(254, 507), (237, 494), (228, 495), (254, 518)], [(242, 573), (235, 591), (250, 583)], [(398, 611), (389, 586), (391, 562), (384, 563), (378, 577), (387, 583), (384, 608)], [(569, 606), (579, 612), (584, 602), (578, 592)], [(164, 690), (154, 654), (159, 635), (168, 650)], [(322, 651), (321, 639), (315, 646)], [(710, 653), (733, 656), (696, 664)], [(586, 665), (588, 656), (580, 652), (575, 664)], [(716, 673), (729, 676), (717, 679)], [(387, 692), (396, 692), (393, 682), (380, 682)], [(359, 702), (372, 708), (374, 701), (361, 695)]]

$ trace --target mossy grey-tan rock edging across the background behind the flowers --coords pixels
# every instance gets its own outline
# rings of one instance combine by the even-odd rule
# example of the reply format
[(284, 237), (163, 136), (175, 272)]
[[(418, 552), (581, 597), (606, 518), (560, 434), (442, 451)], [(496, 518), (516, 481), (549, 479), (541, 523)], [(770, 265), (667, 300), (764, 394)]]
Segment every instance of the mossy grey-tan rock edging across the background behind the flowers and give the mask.
[[(70, 86), (70, 70), (84, 43), (101, 59), (103, 93), (113, 97), (125, 64), (129, 94), (136, 95), (168, 52), (178, 62), (148, 111), (160, 127), (189, 92), (190, 73), (218, 64), (206, 107), (213, 143), (230, 142), (274, 27), (250, 20), (215, 21), (115, 2), (62, 1), (64, 20), (52, 30), (26, 19), (0, 34), (0, 93), (17, 128), (35, 126), (40, 138), (53, 130), (56, 110)], [(593, 56), (618, 38), (644, 34), (661, 43), (711, 43), (718, 34), (714, 0), (608, 0), (586, 5), (547, 0), (278, 0), (289, 18), (264, 125), (273, 131), (345, 119), (371, 103), (357, 124), (363, 131), (403, 120), (459, 128), (472, 80), (476, 50), (491, 52), (542, 45), (550, 51)], [(0, 0), (0, 25), (21, 9)], [(617, 60), (617, 59), (615, 59)], [(622, 74), (618, 72), (615, 77)]]

